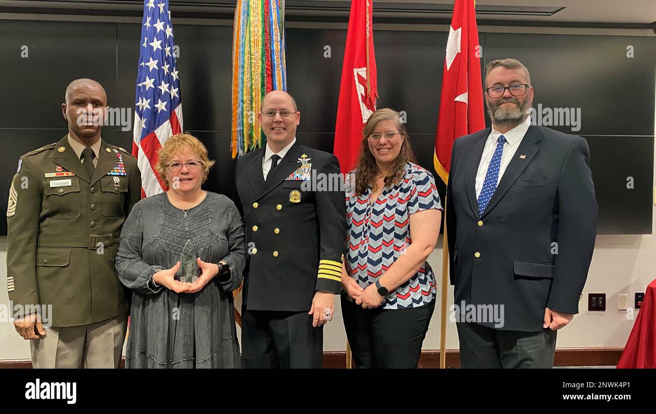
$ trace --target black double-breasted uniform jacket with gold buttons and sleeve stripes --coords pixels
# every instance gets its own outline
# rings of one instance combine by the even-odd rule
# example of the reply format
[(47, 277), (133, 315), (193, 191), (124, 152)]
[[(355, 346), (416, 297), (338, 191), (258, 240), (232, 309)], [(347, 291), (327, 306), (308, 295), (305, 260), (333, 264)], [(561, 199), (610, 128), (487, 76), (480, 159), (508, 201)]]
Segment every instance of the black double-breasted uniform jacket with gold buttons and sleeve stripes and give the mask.
[(243, 304), (249, 311), (307, 312), (316, 291), (342, 287), (346, 204), (339, 162), (297, 140), (265, 183), (265, 149), (237, 162), (236, 204), (249, 253)]

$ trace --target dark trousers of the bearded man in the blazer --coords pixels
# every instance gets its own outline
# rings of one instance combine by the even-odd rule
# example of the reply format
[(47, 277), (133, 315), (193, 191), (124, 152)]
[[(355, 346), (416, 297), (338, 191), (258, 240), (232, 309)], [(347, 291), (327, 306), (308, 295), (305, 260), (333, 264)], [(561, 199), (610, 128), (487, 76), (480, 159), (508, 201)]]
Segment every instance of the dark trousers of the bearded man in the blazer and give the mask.
[(502, 331), (457, 322), (462, 368), (552, 368), (556, 333)]

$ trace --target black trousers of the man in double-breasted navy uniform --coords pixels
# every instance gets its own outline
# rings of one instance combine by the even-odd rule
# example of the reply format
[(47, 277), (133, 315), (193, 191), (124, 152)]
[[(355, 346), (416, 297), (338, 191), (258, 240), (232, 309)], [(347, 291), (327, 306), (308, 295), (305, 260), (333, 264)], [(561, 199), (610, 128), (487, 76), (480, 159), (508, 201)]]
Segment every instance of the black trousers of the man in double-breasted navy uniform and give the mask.
[(320, 368), (323, 326), (308, 312), (248, 311), (241, 314), (244, 368)]

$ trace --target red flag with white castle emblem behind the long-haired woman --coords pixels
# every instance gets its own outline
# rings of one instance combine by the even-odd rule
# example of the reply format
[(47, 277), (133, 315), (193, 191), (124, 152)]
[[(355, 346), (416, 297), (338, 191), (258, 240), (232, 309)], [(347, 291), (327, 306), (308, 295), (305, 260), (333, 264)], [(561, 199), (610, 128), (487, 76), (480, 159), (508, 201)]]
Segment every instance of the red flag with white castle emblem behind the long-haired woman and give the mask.
[(373, 0), (353, 0), (348, 17), (333, 149), (342, 173), (353, 170), (362, 141), (362, 128), (376, 110), (378, 91), (372, 3)]

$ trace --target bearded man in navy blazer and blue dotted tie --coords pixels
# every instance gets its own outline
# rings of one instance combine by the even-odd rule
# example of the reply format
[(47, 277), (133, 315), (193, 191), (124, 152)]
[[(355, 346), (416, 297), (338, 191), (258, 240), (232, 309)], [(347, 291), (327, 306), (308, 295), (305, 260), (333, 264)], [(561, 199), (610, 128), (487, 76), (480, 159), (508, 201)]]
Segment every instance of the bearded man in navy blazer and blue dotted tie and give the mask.
[(489, 62), (492, 127), (453, 144), (447, 234), (462, 367), (552, 367), (578, 313), (597, 203), (586, 140), (531, 125), (529, 72)]

